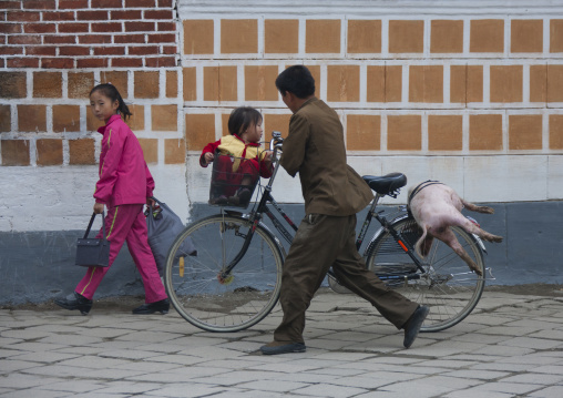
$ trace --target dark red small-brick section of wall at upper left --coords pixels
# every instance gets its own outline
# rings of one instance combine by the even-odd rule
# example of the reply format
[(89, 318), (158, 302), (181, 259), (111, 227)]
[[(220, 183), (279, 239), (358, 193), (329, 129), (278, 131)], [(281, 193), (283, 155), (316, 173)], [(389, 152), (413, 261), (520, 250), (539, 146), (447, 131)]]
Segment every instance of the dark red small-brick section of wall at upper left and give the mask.
[(173, 3), (0, 1), (0, 68), (175, 67)]

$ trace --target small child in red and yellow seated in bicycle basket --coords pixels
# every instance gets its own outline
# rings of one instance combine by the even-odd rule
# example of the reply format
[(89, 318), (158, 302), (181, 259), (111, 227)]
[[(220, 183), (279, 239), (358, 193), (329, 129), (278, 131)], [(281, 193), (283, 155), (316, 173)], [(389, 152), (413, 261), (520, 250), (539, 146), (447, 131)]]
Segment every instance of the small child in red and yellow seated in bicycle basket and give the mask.
[[(267, 178), (273, 171), (272, 151), (260, 151), (260, 112), (249, 106), (235, 109), (228, 118), (228, 132), (231, 135), (203, 149), (199, 164), (207, 167), (214, 160), (216, 162), (213, 204), (246, 204), (250, 200), (250, 186), (258, 178), (258, 172)], [(215, 153), (219, 155), (218, 159), (215, 159)]]

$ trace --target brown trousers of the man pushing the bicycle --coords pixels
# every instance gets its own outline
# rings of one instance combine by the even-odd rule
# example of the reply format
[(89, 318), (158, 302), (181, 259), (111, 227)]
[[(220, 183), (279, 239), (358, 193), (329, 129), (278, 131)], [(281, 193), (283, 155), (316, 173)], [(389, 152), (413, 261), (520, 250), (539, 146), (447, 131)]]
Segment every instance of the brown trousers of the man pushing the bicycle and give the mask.
[(284, 264), (279, 302), (284, 310), (274, 340), (304, 343), (305, 312), (330, 266), (338, 280), (365, 298), (398, 329), (418, 307), (389, 289), (356, 249), (356, 215), (307, 215), (299, 225)]

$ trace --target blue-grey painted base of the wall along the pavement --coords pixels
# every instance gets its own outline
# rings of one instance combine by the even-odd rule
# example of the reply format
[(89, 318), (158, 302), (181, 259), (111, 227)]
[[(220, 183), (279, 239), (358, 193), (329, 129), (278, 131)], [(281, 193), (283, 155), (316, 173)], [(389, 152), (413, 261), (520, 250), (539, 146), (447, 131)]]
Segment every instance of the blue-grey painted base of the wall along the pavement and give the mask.
[[(471, 214), (485, 231), (504, 237), (501, 244), (485, 243), (485, 264), (497, 277), (489, 283), (563, 284), (563, 202), (489, 205), (495, 210), (494, 215)], [(284, 208), (297, 224), (304, 216), (303, 204), (284, 205)], [(206, 204), (195, 204), (190, 218), (198, 220), (216, 212), (217, 208)], [(358, 220), (364, 216), (365, 212)], [(371, 225), (372, 232), (376, 224)], [(73, 265), (75, 242), (82, 234), (81, 231), (0, 232), (0, 304), (43, 303), (72, 292), (85, 273), (85, 268)], [(95, 298), (143, 294), (141, 277), (123, 248)]]

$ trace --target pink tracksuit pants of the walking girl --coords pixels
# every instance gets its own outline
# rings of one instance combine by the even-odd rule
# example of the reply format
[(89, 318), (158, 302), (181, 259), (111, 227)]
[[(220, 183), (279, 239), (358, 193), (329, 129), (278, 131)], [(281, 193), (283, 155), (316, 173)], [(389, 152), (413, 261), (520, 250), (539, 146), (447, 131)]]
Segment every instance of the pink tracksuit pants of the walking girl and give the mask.
[[(95, 289), (110, 269), (120, 253), (123, 243), (127, 242), (129, 252), (135, 262), (145, 288), (145, 303), (155, 303), (166, 298), (153, 253), (147, 242), (146, 221), (142, 204), (123, 204), (108, 210), (105, 232), (110, 246), (109, 267), (89, 267), (75, 292), (92, 299)], [(102, 231), (96, 237), (102, 236)]]

